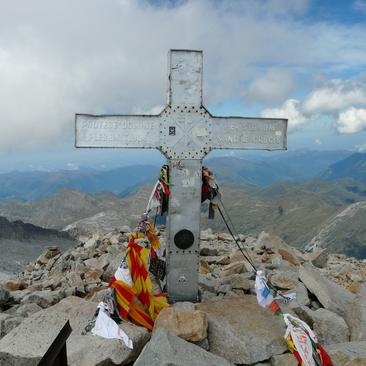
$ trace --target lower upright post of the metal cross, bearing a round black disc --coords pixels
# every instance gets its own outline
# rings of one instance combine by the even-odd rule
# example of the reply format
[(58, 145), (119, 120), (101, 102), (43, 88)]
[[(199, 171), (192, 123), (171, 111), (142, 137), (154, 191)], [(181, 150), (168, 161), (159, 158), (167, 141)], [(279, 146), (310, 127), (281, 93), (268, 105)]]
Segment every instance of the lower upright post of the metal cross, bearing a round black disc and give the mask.
[[(168, 296), (172, 302), (197, 301), (202, 165), (200, 160), (170, 160), (169, 169)], [(187, 236), (189, 243), (185, 249), (182, 249), (185, 245), (177, 243), (182, 230), (193, 235), (193, 243)]]

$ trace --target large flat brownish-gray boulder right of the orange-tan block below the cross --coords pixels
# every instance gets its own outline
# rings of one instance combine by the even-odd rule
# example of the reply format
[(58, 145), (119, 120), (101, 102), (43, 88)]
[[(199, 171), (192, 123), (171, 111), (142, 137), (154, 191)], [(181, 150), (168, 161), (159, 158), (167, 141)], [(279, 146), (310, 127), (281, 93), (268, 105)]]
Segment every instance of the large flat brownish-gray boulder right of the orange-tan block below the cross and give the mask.
[(208, 315), (210, 351), (232, 363), (251, 365), (287, 350), (283, 321), (262, 309), (255, 296), (208, 301), (196, 308)]

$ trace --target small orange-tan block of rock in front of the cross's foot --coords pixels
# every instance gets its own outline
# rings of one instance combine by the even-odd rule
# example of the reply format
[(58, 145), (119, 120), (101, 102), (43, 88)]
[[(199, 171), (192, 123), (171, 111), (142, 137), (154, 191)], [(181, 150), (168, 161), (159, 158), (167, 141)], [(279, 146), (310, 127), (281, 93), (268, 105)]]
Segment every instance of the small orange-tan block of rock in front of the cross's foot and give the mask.
[(175, 307), (160, 311), (154, 329), (164, 328), (186, 341), (199, 342), (207, 337), (207, 326), (206, 313)]

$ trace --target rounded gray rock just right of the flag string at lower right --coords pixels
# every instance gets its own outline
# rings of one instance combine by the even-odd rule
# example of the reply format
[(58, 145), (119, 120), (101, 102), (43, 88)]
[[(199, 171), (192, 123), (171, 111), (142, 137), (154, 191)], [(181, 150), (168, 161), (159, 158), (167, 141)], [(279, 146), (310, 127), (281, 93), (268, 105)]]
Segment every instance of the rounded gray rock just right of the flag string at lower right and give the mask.
[(326, 309), (311, 312), (313, 329), (322, 344), (343, 343), (349, 341), (349, 328), (339, 315)]

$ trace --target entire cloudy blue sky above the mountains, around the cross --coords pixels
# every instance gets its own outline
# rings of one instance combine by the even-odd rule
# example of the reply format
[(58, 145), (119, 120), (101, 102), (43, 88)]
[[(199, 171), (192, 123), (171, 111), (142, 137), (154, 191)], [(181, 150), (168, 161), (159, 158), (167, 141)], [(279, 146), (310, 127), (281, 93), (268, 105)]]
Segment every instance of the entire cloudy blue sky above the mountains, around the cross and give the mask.
[(0, 172), (159, 163), (80, 151), (74, 114), (154, 112), (170, 48), (216, 115), (289, 118), (289, 150), (366, 150), (366, 0), (0, 0)]

